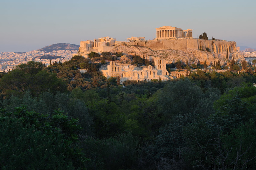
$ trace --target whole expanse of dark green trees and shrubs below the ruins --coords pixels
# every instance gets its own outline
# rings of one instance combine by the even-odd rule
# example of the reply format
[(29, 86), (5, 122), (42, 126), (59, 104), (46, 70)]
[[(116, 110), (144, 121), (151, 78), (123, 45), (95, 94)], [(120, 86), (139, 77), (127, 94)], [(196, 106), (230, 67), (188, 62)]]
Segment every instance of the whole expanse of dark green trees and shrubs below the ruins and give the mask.
[[(183, 79), (127, 80), (123, 87), (81, 56), (47, 68), (31, 64), (0, 79), (0, 169), (256, 163), (256, 74), (250, 69), (240, 74), (198, 69)], [(65, 85), (62, 90), (56, 90), (58, 83)]]

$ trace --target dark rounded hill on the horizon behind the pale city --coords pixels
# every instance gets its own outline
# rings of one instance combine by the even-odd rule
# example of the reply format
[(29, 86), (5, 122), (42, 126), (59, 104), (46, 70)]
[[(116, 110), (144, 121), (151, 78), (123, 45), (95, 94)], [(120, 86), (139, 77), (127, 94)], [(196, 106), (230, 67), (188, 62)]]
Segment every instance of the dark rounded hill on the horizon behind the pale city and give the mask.
[(66, 44), (66, 43), (58, 43), (58, 44), (52, 44), (49, 46), (46, 46), (44, 48), (38, 49), (40, 51), (44, 51), (44, 52), (52, 52), (52, 51), (58, 51), (58, 50), (78, 50), (79, 49), (79, 45), (76, 44)]

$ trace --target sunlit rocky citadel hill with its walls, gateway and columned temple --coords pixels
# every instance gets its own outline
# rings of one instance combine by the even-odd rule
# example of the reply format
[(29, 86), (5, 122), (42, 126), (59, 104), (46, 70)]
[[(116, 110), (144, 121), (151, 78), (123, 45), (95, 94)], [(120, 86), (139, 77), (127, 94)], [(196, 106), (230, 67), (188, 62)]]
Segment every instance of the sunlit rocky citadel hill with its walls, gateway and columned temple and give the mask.
[[(133, 37), (133, 39), (136, 37)], [(243, 60), (236, 49), (235, 41), (225, 40), (203, 40), (192, 37), (192, 29), (182, 30), (176, 27), (156, 28), (156, 38), (154, 40), (129, 39), (128, 42), (115, 41), (115, 38), (103, 37), (93, 41), (80, 42), (80, 55), (87, 56), (91, 51), (111, 53), (123, 52), (124, 55), (139, 55), (146, 59), (163, 58), (168, 63), (176, 62), (180, 59), (183, 62), (197, 64), (207, 62), (208, 65), (220, 60), (221, 64), (227, 63), (226, 50), (229, 51), (229, 59)], [(208, 52), (208, 51), (210, 52)]]

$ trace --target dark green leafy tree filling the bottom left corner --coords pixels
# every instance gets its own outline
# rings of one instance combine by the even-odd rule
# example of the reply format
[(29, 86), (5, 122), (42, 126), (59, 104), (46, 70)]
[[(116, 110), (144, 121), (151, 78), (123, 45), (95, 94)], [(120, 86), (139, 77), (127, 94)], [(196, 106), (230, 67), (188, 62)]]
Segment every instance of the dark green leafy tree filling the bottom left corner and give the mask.
[(19, 107), (0, 112), (0, 169), (82, 169), (78, 120), (63, 112), (43, 115)]

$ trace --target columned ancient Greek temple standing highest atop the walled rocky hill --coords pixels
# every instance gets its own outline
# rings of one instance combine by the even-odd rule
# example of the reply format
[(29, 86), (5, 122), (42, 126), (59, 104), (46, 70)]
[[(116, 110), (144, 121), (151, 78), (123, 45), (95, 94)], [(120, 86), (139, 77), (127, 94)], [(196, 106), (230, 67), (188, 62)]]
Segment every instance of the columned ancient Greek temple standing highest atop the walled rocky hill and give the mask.
[(156, 29), (156, 38), (192, 38), (192, 29), (182, 30), (177, 27), (163, 26)]

